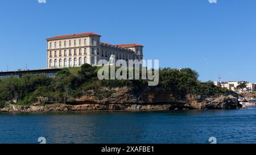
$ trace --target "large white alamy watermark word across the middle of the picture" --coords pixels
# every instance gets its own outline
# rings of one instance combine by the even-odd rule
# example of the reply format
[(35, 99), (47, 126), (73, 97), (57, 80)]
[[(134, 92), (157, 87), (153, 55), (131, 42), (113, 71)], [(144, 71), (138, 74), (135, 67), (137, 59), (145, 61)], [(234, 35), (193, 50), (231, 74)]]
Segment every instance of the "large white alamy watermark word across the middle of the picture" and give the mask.
[[(98, 79), (147, 79), (148, 86), (157, 86), (159, 83), (159, 60), (129, 60), (128, 64), (125, 60), (114, 61), (110, 57), (110, 61), (100, 60), (98, 65), (103, 65), (98, 70)], [(146, 65), (143, 66), (143, 65)], [(115, 67), (119, 67), (115, 70)]]

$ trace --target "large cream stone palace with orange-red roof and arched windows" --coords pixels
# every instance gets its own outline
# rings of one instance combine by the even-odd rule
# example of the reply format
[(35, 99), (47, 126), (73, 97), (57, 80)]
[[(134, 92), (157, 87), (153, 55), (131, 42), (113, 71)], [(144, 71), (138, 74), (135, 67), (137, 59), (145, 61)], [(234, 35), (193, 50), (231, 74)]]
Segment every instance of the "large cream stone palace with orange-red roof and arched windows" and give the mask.
[(65, 68), (82, 64), (97, 65), (99, 60), (142, 60), (143, 46), (140, 44), (112, 45), (100, 42), (96, 33), (79, 33), (55, 36), (47, 40), (47, 68)]

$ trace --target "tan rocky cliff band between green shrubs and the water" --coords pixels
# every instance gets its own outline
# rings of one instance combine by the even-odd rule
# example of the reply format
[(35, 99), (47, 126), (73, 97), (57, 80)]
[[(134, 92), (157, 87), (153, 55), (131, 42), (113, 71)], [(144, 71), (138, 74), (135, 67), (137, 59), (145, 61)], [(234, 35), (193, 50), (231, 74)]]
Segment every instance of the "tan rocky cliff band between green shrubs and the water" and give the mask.
[[(240, 104), (233, 95), (220, 95), (218, 97), (201, 97), (200, 95), (187, 95), (177, 98), (163, 89), (151, 90), (150, 87), (135, 93), (130, 88), (102, 89), (101, 92), (109, 94), (102, 97), (94, 91), (76, 98), (68, 104), (48, 104), (40, 106), (40, 102), (47, 98), (39, 98), (34, 106), (16, 106), (10, 104), (1, 108), (0, 112), (47, 112), (47, 111), (85, 111), (85, 110), (193, 110), (193, 109), (236, 109)], [(110, 93), (111, 92), (111, 93)], [(103, 94), (104, 94), (103, 93)], [(104, 96), (104, 95), (103, 95)]]

